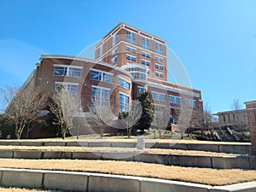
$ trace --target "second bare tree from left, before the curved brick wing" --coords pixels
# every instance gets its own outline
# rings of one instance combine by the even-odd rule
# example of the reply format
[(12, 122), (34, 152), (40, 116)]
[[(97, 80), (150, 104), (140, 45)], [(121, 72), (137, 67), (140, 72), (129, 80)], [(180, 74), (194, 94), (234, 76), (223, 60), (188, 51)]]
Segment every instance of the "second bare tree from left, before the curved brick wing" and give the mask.
[(50, 97), (49, 110), (55, 115), (55, 125), (60, 125), (62, 139), (73, 127), (75, 113), (79, 109), (79, 101), (65, 87), (60, 87)]

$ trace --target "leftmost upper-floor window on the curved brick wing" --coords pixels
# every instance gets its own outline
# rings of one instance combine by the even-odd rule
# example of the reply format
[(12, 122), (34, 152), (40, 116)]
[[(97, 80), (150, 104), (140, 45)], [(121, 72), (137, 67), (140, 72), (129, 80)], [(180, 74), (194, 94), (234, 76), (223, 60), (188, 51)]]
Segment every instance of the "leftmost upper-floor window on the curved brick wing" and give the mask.
[(55, 66), (55, 76), (82, 77), (82, 68), (80, 67), (59, 67)]

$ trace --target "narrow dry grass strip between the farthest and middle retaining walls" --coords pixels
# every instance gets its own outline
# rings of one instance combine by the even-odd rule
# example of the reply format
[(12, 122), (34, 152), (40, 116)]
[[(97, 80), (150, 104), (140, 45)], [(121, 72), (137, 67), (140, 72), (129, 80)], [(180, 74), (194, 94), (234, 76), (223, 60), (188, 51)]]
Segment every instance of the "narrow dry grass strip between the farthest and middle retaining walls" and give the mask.
[(44, 150), (44, 151), (72, 151), (72, 152), (144, 152), (154, 154), (194, 154), (194, 155), (237, 155), (237, 154), (224, 154), (207, 151), (195, 150), (179, 150), (179, 149), (166, 149), (166, 148), (146, 148), (144, 150), (137, 150), (136, 148), (86, 148), (86, 147), (62, 147), (62, 146), (0, 146), (0, 150)]

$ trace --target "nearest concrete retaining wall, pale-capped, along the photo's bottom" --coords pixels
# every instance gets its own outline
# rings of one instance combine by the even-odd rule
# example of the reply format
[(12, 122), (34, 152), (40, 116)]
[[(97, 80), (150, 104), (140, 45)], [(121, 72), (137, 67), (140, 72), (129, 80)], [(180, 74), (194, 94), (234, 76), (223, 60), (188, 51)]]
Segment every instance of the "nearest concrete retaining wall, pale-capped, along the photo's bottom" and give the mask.
[(0, 169), (0, 185), (33, 189), (60, 189), (86, 192), (254, 192), (256, 182), (215, 186), (156, 178), (119, 176), (89, 172), (56, 172)]

